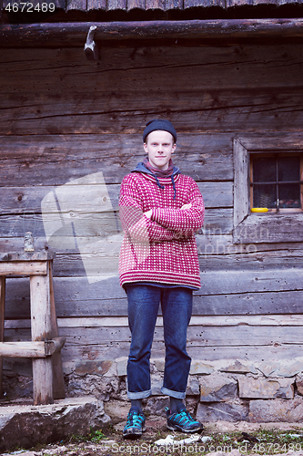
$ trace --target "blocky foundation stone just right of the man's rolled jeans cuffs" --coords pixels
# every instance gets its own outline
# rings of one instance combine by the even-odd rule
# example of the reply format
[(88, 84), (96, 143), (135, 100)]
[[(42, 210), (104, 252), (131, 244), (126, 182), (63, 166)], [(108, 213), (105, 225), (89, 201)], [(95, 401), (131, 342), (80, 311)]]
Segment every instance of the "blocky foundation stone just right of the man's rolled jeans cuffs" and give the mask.
[(234, 378), (213, 374), (200, 378), (200, 401), (217, 402), (237, 396), (237, 381)]

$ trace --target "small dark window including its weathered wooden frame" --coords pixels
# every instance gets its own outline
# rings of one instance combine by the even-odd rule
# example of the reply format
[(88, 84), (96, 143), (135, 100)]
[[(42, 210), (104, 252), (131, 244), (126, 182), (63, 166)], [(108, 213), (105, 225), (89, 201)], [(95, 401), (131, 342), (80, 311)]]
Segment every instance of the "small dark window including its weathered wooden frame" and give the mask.
[(234, 140), (235, 244), (303, 242), (302, 157), (303, 134)]

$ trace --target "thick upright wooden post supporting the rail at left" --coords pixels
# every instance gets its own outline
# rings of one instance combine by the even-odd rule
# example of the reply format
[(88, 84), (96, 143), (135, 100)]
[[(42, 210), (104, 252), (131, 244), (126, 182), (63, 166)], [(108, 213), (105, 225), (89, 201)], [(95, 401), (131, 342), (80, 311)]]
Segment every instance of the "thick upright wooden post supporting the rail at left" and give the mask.
[[(51, 304), (49, 270), (47, 275), (30, 277), (32, 340), (51, 339)], [(52, 404), (52, 358), (33, 358), (34, 404)]]

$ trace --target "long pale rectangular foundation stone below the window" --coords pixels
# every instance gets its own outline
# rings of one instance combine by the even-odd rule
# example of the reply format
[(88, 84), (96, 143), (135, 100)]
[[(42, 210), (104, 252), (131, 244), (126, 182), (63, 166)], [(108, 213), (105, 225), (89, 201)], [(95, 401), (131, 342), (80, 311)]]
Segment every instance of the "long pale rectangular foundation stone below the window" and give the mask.
[(239, 397), (242, 399), (293, 399), (294, 378), (238, 378)]

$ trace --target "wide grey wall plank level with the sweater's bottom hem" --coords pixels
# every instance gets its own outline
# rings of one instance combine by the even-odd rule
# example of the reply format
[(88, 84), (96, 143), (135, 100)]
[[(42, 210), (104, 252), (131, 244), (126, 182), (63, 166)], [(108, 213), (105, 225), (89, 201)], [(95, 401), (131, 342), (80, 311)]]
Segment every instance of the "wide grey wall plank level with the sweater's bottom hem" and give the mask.
[[(276, 275), (267, 275), (263, 271), (256, 274), (248, 271), (240, 274), (233, 271), (228, 275), (209, 272), (202, 274), (202, 291), (194, 293), (194, 315), (258, 315), (258, 314), (302, 314), (303, 291), (299, 275), (289, 281), (291, 271), (284, 275), (277, 270)], [(217, 280), (216, 280), (217, 276)], [(236, 290), (232, 280), (236, 276)], [(262, 280), (262, 277), (266, 280)], [(271, 278), (270, 278), (271, 277)], [(260, 278), (260, 280), (256, 280)], [(268, 279), (267, 279), (268, 278)], [(219, 282), (219, 279), (222, 282)], [(15, 280), (18, 282), (16, 283)], [(272, 285), (270, 285), (273, 280)], [(228, 285), (230, 282), (230, 285)], [(268, 285), (269, 282), (269, 285)], [(281, 288), (280, 288), (281, 285)], [(18, 293), (15, 293), (15, 289)], [(55, 278), (56, 312), (63, 316), (126, 316), (126, 294), (119, 286), (118, 277), (96, 281), (87, 285), (86, 276)], [(253, 286), (254, 292), (251, 291)], [(268, 287), (268, 291), (267, 291)], [(29, 290), (25, 279), (6, 280), (6, 318), (29, 316)], [(264, 289), (265, 288), (265, 289)], [(272, 291), (269, 291), (270, 288)], [(229, 293), (229, 294), (228, 294)]]

